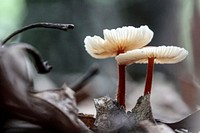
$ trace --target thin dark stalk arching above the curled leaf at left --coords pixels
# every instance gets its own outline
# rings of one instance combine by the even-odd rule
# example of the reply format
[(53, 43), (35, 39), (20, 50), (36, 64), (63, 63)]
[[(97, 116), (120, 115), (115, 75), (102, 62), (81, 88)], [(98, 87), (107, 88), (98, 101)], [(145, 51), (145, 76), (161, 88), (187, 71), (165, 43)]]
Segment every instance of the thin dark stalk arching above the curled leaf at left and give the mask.
[(21, 32), (24, 32), (26, 30), (33, 29), (33, 28), (51, 28), (51, 29), (59, 29), (59, 30), (67, 31), (68, 29), (73, 29), (74, 25), (73, 24), (60, 24), (60, 23), (46, 23), (46, 22), (30, 24), (30, 25), (27, 25), (27, 26), (13, 32), (11, 35), (9, 35), (7, 38), (5, 38), (2, 41), (2, 45), (4, 45), (8, 40), (10, 40), (15, 35), (17, 35)]

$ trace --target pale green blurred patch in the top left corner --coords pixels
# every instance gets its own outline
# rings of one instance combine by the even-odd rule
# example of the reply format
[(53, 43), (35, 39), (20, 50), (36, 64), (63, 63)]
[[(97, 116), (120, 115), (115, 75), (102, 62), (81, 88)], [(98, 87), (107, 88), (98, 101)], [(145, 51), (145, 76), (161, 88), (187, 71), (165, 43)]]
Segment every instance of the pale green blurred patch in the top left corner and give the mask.
[(0, 38), (22, 26), (26, 16), (25, 0), (2, 0), (0, 2)]

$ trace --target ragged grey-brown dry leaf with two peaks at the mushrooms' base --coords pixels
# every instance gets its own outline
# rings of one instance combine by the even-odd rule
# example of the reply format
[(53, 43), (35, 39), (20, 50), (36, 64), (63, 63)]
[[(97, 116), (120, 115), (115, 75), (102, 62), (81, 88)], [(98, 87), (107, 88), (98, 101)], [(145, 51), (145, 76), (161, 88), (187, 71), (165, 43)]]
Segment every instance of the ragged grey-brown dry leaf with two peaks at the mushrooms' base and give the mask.
[(173, 133), (167, 125), (155, 123), (151, 112), (150, 95), (141, 96), (136, 106), (127, 113), (109, 97), (94, 99), (94, 104), (97, 112), (95, 132)]

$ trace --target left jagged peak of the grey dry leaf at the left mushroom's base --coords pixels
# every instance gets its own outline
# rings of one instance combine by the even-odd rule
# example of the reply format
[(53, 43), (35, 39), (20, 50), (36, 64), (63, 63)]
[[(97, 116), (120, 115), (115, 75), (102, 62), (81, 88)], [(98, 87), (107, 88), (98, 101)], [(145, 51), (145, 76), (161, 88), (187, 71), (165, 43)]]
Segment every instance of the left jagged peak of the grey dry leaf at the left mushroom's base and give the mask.
[[(120, 106), (115, 100), (109, 97), (102, 97), (94, 100), (97, 115), (95, 120), (95, 126), (97, 126), (97, 132), (106, 133), (145, 133), (146, 130), (142, 126), (139, 126), (135, 122), (132, 115), (132, 119), (129, 118), (122, 106)], [(129, 112), (130, 113), (130, 112)]]

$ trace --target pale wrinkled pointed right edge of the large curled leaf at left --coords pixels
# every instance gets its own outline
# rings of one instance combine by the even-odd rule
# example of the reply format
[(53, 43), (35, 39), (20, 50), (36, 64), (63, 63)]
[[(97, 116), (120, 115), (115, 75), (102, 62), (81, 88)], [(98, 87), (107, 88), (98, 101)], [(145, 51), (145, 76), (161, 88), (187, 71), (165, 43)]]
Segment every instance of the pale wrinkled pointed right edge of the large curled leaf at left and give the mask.
[[(50, 103), (54, 106), (55, 110), (59, 110), (60, 113), (63, 114), (63, 117), (58, 117), (57, 120), (65, 121), (63, 126), (66, 128), (66, 131), (69, 129), (69, 131), (90, 132), (85, 124), (78, 118), (74, 91), (65, 84), (59, 90), (44, 91), (34, 94), (34, 96)], [(56, 119), (57, 116), (55, 115), (54, 117)]]

